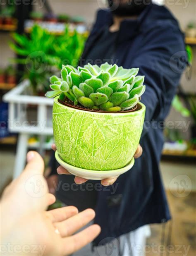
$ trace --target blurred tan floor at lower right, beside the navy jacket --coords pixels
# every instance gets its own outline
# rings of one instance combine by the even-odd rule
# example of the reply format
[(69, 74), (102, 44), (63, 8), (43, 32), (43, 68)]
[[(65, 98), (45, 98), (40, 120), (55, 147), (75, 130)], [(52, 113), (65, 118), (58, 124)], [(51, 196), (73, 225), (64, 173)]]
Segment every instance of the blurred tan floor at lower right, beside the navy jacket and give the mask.
[(196, 193), (184, 198), (167, 191), (172, 220), (151, 225), (146, 256), (196, 256)]

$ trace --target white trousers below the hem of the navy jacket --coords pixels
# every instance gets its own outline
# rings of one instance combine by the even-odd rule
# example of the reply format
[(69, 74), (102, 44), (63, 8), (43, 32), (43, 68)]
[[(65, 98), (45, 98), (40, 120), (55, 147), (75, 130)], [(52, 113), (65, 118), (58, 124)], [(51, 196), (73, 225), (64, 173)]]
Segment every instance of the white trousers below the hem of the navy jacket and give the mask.
[(146, 238), (150, 234), (150, 227), (146, 225), (93, 250), (92, 244), (88, 244), (73, 256), (145, 256)]

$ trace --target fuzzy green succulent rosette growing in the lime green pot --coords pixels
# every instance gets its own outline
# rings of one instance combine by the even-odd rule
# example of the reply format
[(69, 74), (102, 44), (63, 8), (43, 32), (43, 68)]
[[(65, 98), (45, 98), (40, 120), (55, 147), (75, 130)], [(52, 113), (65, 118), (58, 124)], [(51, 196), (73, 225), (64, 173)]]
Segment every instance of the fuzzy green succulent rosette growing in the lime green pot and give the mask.
[(124, 69), (108, 62), (85, 65), (77, 69), (62, 66), (61, 77), (50, 77), (50, 88), (45, 96), (60, 100), (68, 98), (74, 105), (92, 110), (119, 112), (134, 108), (146, 87), (144, 76), (137, 76), (139, 68)]

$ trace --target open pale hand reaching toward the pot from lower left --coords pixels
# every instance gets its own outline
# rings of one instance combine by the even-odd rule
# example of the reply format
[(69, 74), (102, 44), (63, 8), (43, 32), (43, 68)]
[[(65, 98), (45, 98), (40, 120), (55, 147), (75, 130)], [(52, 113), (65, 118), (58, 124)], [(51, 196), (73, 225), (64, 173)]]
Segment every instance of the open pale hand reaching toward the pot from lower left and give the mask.
[[(55, 202), (55, 196), (48, 193), (43, 178), (43, 159), (31, 151), (27, 154), (27, 162), (22, 175), (5, 189), (2, 196), (1, 245), (5, 245), (5, 249), (6, 244), (19, 245), (21, 250), (9, 251), (12, 255), (29, 255), (33, 245), (37, 245), (35, 255), (68, 255), (95, 239), (100, 233), (98, 225), (74, 234), (93, 220), (95, 212), (92, 209), (78, 213), (77, 208), (68, 206), (45, 211)], [(26, 246), (26, 252), (23, 246)]]

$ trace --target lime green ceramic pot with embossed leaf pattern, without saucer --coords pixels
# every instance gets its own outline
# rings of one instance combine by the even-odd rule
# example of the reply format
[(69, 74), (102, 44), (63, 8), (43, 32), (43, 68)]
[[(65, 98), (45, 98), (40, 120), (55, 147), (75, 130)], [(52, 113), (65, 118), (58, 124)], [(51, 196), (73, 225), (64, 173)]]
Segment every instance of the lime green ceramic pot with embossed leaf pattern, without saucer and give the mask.
[(125, 113), (102, 113), (53, 106), (57, 152), (65, 163), (88, 170), (115, 170), (133, 158), (139, 144), (146, 107)]

